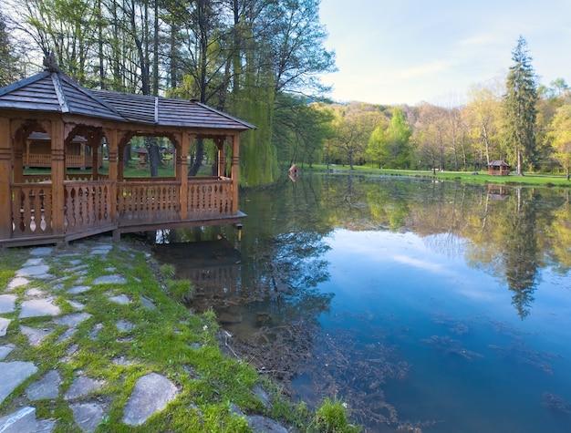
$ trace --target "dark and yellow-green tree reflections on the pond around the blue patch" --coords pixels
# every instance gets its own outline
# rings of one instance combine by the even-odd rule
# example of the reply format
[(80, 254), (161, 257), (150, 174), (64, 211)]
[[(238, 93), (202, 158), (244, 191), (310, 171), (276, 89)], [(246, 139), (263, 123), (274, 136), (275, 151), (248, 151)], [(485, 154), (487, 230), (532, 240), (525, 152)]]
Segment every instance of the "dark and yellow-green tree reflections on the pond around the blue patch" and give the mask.
[[(368, 426), (420, 431), (433, 421), (404, 422), (384, 397), (386, 381), (405, 380), (410, 369), (400, 348), (387, 343), (385, 330), (364, 325), (358, 334), (339, 325), (323, 332), (319, 319), (333, 300), (333, 294), (319, 290), (330, 278), (327, 236), (337, 228), (415, 232), (431, 251), (463, 254), (472, 267), (492, 274), (513, 292), (515, 310), (524, 319), (533, 312), (541, 270), (551, 265), (566, 273), (571, 267), (568, 192), (509, 187), (501, 192), (430, 180), (301, 176), (296, 183), (243, 194), (240, 208), (248, 218), (241, 242), (232, 229), (177, 231), (179, 241), (219, 239), (208, 247), (212, 250), (206, 242), (195, 245), (198, 265), (189, 260), (190, 245), (164, 249), (162, 261), (175, 263), (177, 276), (194, 282), (191, 307), (214, 309), (232, 335), (224, 339), (232, 350), (280, 380), (292, 396), (311, 387), (304, 393), (310, 403), (343, 397), (352, 415)], [(160, 260), (161, 250), (158, 246)], [(468, 331), (456, 322), (451, 332), (461, 337)], [(445, 354), (467, 354), (457, 337), (424, 340)], [(522, 345), (489, 348), (544, 371), (548, 365), (544, 355)]]

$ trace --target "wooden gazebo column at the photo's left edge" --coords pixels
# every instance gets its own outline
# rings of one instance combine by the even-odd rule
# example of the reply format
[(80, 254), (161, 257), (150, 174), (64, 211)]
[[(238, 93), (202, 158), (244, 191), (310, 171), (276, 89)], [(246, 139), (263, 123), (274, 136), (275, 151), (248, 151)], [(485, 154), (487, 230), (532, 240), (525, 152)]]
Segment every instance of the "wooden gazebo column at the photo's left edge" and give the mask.
[(12, 147), (10, 120), (0, 118), (0, 239), (12, 236)]

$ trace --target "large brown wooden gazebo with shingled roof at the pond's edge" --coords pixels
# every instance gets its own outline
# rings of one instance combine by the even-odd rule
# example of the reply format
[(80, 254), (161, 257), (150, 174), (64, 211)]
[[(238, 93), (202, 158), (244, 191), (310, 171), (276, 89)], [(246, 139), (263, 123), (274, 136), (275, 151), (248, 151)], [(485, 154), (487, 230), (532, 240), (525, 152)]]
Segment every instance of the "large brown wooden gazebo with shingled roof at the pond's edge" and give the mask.
[[(239, 134), (247, 129), (254, 126), (196, 101), (82, 88), (53, 64), (0, 88), (0, 249), (241, 222)], [(26, 146), (37, 133), (49, 139), (50, 170), (26, 174)], [(76, 137), (88, 147), (89, 171), (67, 170)], [(123, 149), (133, 137), (170, 139), (174, 176), (124, 177)], [(188, 176), (195, 139), (213, 139), (217, 176)], [(99, 170), (102, 143), (107, 172)], [(229, 177), (224, 145), (232, 158)]]

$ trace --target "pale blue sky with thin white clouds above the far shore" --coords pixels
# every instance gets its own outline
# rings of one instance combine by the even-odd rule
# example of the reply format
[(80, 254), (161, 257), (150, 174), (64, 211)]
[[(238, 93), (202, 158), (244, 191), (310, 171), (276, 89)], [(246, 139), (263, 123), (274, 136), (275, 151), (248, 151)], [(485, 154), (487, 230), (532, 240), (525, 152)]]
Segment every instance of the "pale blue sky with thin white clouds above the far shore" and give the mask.
[(541, 84), (571, 85), (571, 0), (321, 0), (320, 18), (339, 101), (458, 105), (504, 81), (520, 35)]

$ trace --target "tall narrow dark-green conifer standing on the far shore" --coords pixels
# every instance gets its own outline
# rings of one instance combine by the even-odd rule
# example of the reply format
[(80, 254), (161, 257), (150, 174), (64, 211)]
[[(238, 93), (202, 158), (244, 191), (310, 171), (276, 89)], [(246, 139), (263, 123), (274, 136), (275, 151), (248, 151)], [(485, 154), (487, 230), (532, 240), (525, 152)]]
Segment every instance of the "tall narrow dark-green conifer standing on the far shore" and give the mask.
[(512, 60), (514, 64), (510, 67), (505, 86), (505, 127), (516, 174), (523, 176), (524, 163), (535, 163), (535, 104), (538, 98), (532, 57), (523, 36), (519, 37), (512, 51)]

